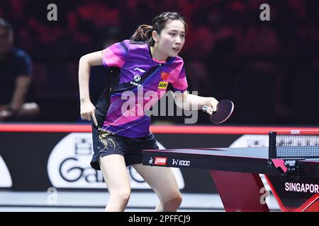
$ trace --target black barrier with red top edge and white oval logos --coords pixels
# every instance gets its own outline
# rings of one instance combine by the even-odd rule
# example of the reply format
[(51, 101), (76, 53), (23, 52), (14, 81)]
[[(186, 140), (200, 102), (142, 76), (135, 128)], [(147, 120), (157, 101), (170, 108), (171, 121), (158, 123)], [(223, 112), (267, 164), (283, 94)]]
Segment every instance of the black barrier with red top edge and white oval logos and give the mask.
[[(13, 191), (47, 191), (50, 187), (57, 189), (106, 189), (101, 172), (89, 166), (91, 133), (87, 129), (88, 126), (83, 126), (82, 130), (69, 129), (69, 131), (56, 129), (47, 129), (47, 131), (30, 129), (28, 131), (28, 125), (22, 126), (22, 129), (20, 127), (10, 129), (8, 124), (4, 129), (3, 126), (0, 125), (0, 157), (12, 180), (12, 185), (6, 186), (7, 189)], [(198, 130), (198, 126), (167, 126), (166, 128), (167, 133), (157, 130), (156, 126), (152, 127), (155, 138), (162, 145), (162, 148), (268, 145), (268, 129), (265, 128), (255, 129), (255, 131), (252, 127), (232, 126), (201, 126), (201, 130)], [(181, 131), (174, 132), (174, 129), (178, 128), (182, 128)], [(271, 129), (269, 128), (269, 130)], [(203, 133), (200, 134), (198, 131)], [(245, 131), (264, 135), (245, 136)], [(216, 193), (216, 187), (208, 170), (175, 170), (177, 170), (177, 181), (181, 191)], [(145, 183), (142, 183), (133, 169), (130, 169), (130, 179), (133, 182), (133, 190), (150, 189), (145, 186)]]

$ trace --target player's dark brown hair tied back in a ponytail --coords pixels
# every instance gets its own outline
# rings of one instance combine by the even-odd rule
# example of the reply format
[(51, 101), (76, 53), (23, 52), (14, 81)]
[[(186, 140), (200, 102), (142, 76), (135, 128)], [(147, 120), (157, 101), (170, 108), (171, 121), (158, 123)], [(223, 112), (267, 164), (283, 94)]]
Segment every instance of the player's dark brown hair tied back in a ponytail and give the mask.
[(177, 12), (164, 12), (160, 13), (158, 16), (156, 16), (152, 20), (152, 25), (140, 25), (138, 29), (135, 31), (135, 33), (130, 37), (130, 40), (136, 41), (136, 42), (148, 42), (150, 46), (153, 46), (155, 44), (155, 41), (152, 38), (152, 32), (155, 30), (158, 34), (162, 32), (162, 30), (165, 28), (167, 23), (171, 20), (181, 20), (181, 22), (185, 26), (185, 31), (187, 28), (186, 22), (184, 18), (182, 18), (179, 13)]

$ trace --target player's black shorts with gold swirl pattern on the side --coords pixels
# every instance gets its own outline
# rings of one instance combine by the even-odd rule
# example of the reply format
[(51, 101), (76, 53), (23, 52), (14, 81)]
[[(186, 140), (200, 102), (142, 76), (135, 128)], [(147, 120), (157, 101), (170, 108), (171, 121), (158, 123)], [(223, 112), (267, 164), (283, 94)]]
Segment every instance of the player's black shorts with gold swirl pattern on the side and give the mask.
[(153, 133), (142, 138), (129, 138), (92, 125), (93, 157), (91, 167), (101, 170), (99, 157), (106, 155), (122, 155), (126, 166), (142, 163), (143, 149), (158, 149)]

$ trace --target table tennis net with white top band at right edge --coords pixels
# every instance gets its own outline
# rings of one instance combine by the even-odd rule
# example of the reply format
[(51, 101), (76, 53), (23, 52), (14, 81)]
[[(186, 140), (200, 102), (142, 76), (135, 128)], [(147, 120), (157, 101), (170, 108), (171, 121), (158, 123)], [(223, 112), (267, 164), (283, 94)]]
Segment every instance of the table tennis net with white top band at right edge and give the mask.
[(271, 131), (269, 158), (319, 158), (319, 131)]

